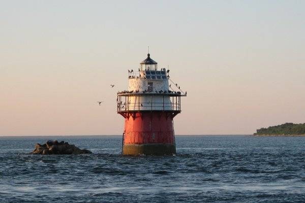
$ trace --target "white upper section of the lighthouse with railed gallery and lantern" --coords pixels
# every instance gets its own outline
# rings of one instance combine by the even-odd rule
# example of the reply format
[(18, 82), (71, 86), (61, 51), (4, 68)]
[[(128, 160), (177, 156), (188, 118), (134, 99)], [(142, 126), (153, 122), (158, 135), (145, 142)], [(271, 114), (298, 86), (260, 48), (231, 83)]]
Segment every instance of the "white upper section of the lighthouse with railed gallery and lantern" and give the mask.
[(128, 90), (117, 93), (118, 112), (181, 111), (180, 96), (186, 93), (181, 95), (180, 86), (169, 78), (169, 70), (158, 70), (157, 64), (148, 53), (138, 72), (128, 70)]

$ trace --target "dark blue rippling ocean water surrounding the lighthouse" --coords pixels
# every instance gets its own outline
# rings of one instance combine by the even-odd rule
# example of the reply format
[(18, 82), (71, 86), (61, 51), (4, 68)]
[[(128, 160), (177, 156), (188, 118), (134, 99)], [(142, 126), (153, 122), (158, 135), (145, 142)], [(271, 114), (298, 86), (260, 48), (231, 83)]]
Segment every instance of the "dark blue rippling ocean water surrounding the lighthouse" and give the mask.
[[(29, 155), (64, 140), (93, 154)], [(173, 156), (121, 137), (0, 137), (0, 202), (305, 202), (305, 137), (177, 136)]]

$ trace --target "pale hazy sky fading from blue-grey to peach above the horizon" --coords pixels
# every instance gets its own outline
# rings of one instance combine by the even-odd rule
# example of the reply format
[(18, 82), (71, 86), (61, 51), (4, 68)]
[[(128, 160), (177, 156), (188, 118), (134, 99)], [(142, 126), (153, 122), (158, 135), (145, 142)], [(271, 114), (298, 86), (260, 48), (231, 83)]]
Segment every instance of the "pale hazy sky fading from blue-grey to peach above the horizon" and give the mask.
[(122, 134), (148, 45), (188, 91), (175, 134), (305, 122), (305, 1), (0, 3), (0, 136)]

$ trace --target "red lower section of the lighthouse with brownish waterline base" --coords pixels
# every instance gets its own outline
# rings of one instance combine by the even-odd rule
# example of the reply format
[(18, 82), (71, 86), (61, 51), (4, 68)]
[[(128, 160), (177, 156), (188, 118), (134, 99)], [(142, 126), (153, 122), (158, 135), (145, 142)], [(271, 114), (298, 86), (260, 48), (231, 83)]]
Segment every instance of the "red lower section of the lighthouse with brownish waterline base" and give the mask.
[(173, 113), (135, 112), (123, 116), (124, 155), (176, 153)]

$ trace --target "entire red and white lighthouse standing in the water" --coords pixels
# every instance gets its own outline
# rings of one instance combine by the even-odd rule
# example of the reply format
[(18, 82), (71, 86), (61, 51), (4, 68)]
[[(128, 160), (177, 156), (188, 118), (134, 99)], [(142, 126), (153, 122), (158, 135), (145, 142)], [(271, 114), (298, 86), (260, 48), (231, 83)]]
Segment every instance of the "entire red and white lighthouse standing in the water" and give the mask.
[(173, 118), (186, 92), (149, 53), (137, 69), (128, 70), (128, 90), (117, 93), (117, 113), (125, 119), (122, 154), (175, 154)]

